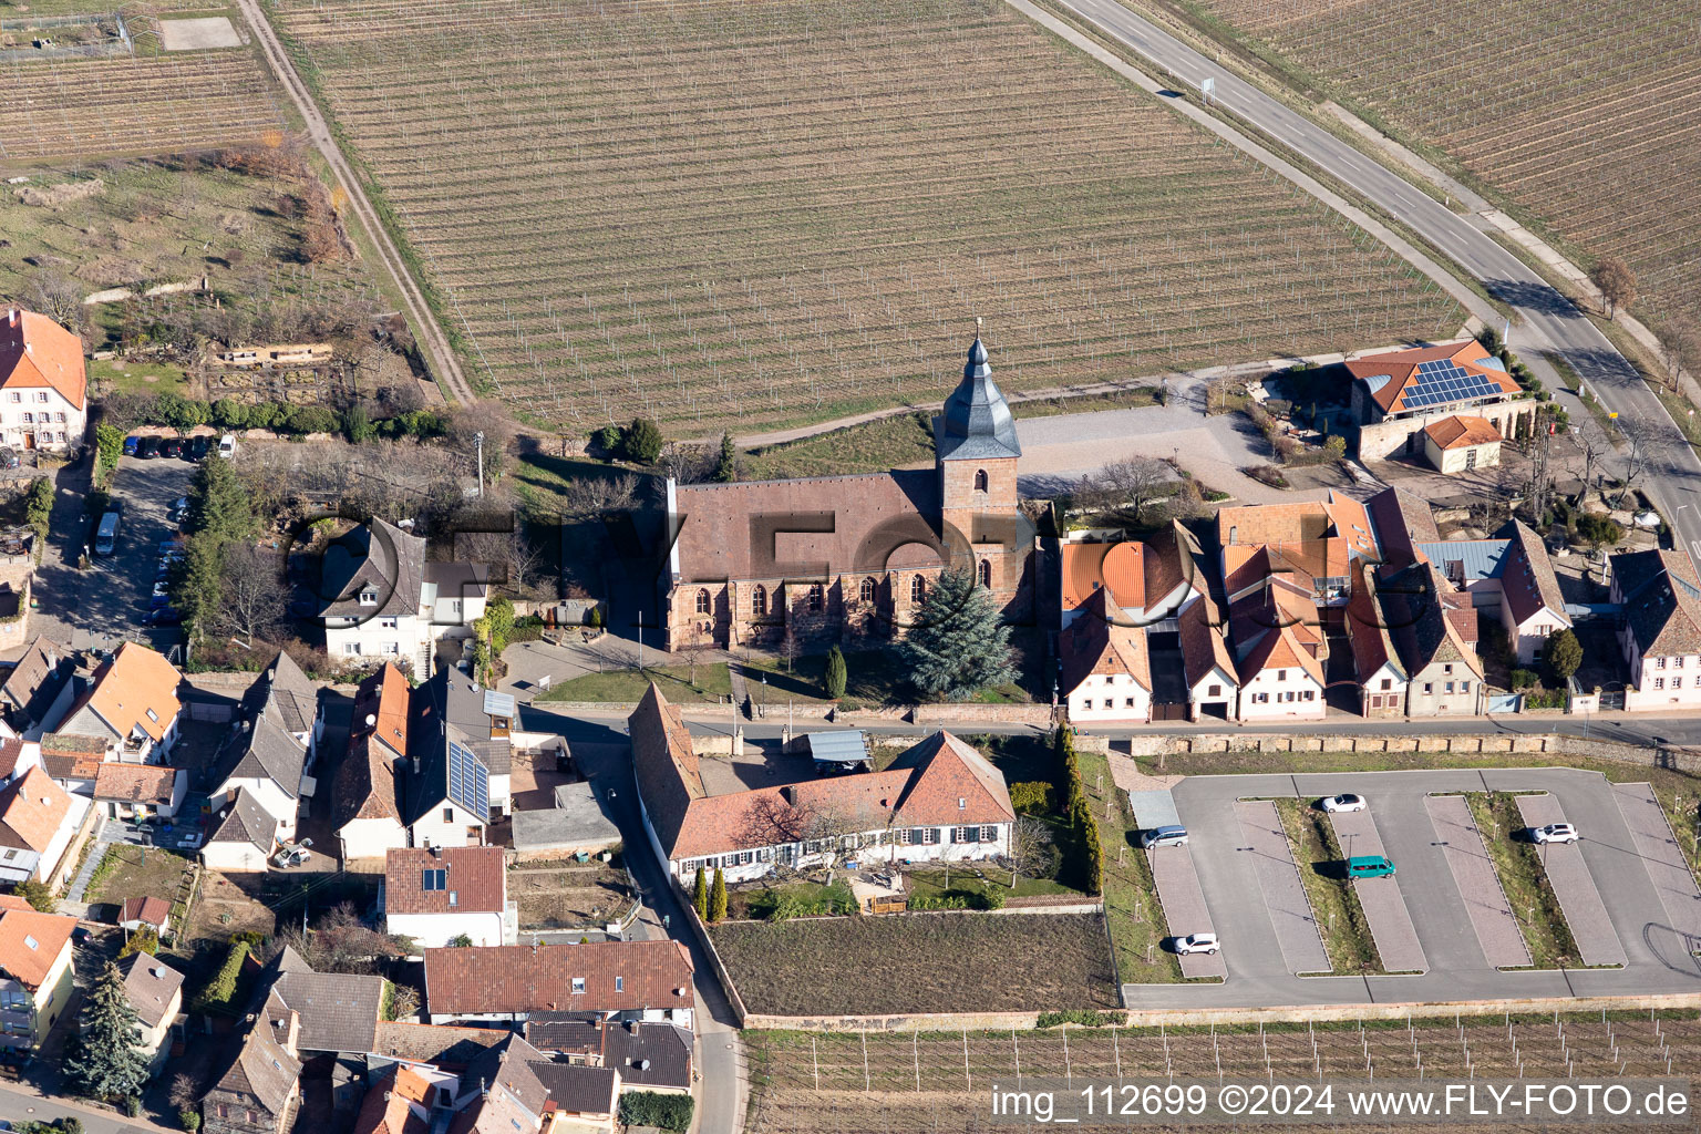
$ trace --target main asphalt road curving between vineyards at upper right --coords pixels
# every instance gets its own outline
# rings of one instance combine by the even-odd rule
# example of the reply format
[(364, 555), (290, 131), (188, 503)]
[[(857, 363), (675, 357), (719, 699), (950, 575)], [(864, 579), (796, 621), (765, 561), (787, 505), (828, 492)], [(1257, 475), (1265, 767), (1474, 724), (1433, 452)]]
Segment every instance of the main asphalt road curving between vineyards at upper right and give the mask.
[(1645, 422), (1653, 434), (1652, 459), (1638, 485), (1655, 498), (1677, 530), (1677, 546), (1701, 559), (1701, 459), (1672, 423), (1635, 367), (1584, 315), (1539, 274), (1488, 236), (1492, 224), (1458, 214), (1402, 175), (1380, 165), (1330, 131), (1283, 105), (1116, 0), (1058, 0), (1077, 17), (1140, 56), (1192, 85), (1215, 80), (1213, 104), (1281, 141), (1376, 202), (1434, 248), (1470, 272), (1497, 299), (1512, 306), (1514, 349), (1555, 350), (1621, 417)]

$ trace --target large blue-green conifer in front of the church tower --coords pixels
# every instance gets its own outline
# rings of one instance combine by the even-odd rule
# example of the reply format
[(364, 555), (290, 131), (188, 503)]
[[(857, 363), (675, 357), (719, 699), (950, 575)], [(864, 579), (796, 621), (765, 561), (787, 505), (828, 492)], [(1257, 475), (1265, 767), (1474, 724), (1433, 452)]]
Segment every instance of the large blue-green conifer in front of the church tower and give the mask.
[(1010, 627), (993, 605), (992, 592), (975, 583), (971, 568), (941, 573), (900, 656), (922, 694), (949, 700), (966, 700), (1015, 675)]

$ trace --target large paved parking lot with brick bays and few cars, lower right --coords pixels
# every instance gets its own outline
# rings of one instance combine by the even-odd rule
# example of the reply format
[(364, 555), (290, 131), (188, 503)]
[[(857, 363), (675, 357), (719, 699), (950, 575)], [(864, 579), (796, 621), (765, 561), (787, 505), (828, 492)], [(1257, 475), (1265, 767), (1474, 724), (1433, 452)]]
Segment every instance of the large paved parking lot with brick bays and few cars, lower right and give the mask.
[[(1521, 797), (1526, 821), (1570, 821), (1577, 845), (1543, 847), (1585, 966), (1524, 969), (1485, 838), (1461, 792)], [(1344, 855), (1386, 855), (1393, 877), (1354, 882), (1386, 976), (1328, 972), (1271, 799), (1352, 792), (1366, 811), (1334, 814)], [(1701, 991), (1701, 894), (1645, 787), (1577, 768), (1199, 775), (1172, 789), (1186, 853), (1153, 852), (1165, 908), (1221, 933), (1221, 984), (1129, 984), (1133, 1008), (1412, 1003), (1509, 996)], [(1500, 838), (1505, 838), (1502, 833)], [(1349, 850), (1351, 847), (1351, 850)], [(1165, 864), (1158, 855), (1175, 853)], [(1306, 865), (1308, 869), (1308, 865)], [(1192, 874), (1194, 877), (1175, 877)], [(1192, 887), (1198, 889), (1192, 889)], [(1192, 898), (1198, 894), (1199, 898)], [(1300, 976), (1311, 972), (1315, 976)]]

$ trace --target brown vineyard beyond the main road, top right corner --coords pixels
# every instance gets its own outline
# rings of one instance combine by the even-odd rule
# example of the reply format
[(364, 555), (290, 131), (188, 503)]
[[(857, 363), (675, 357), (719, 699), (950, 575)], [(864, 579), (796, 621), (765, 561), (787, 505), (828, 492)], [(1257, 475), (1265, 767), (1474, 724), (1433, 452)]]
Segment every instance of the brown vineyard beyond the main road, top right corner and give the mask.
[(1446, 151), (1655, 315), (1701, 315), (1698, 0), (1175, 0)]

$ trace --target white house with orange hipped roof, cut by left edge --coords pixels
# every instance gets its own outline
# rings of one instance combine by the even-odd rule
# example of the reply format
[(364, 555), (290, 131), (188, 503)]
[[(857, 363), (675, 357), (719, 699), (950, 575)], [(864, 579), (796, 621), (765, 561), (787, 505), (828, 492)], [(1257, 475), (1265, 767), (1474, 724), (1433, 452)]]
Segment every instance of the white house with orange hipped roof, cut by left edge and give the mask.
[(10, 308), (0, 323), (0, 444), (65, 452), (83, 444), (83, 342), (46, 315)]

